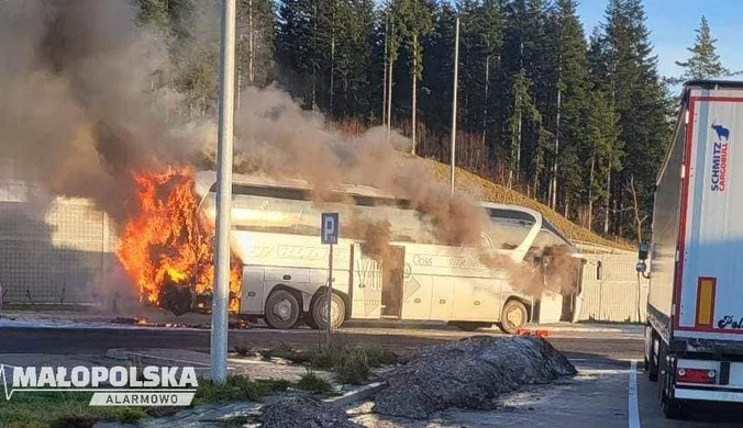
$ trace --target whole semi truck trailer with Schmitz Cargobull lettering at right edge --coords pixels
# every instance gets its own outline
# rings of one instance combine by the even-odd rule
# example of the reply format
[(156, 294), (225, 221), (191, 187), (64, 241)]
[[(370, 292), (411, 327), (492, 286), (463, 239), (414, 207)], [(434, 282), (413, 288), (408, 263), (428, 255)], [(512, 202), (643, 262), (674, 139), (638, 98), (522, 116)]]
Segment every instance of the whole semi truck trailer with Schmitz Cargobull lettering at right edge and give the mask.
[(653, 209), (637, 271), (650, 280), (645, 371), (663, 412), (743, 403), (743, 82), (684, 86)]

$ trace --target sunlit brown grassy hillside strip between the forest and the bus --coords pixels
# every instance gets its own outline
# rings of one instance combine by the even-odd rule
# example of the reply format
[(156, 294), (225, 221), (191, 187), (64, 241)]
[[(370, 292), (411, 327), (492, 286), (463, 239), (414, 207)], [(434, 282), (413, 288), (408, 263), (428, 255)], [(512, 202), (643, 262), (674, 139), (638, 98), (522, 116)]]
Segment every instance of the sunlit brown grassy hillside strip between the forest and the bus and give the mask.
[[(425, 159), (425, 161), (431, 164), (431, 168), (436, 174), (436, 178), (445, 181), (450, 180), (448, 165), (432, 159)], [(496, 184), (462, 168), (456, 169), (456, 188), (459, 191), (466, 192), (487, 202), (521, 205), (535, 210), (540, 212), (547, 221), (550, 221), (550, 223), (555, 225), (555, 227), (557, 227), (563, 234), (565, 234), (568, 239), (612, 248), (629, 250), (634, 249), (630, 244), (623, 240), (613, 241), (603, 238), (583, 226), (576, 225), (548, 206), (534, 201), (533, 199), (526, 198), (522, 193), (510, 190), (503, 185)]]

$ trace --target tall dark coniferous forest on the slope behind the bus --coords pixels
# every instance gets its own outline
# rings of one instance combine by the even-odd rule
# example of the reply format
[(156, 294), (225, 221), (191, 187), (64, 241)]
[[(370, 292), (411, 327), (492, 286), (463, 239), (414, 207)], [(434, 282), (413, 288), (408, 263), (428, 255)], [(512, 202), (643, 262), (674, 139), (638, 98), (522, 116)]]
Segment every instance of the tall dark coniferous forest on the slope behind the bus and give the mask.
[[(166, 78), (187, 94), (187, 114), (211, 114), (218, 40), (204, 38), (195, 16), (217, 16), (203, 3), (218, 2), (134, 1), (169, 41), (176, 69)], [(648, 238), (677, 110), (669, 85), (728, 70), (703, 18), (690, 57), (678, 58), (684, 76), (674, 78), (658, 74), (641, 0), (608, 0), (589, 34), (576, 8), (237, 0), (237, 86), (279, 85), (342, 128), (390, 124), (415, 154), (448, 161), (458, 18), (457, 165), (598, 233)]]

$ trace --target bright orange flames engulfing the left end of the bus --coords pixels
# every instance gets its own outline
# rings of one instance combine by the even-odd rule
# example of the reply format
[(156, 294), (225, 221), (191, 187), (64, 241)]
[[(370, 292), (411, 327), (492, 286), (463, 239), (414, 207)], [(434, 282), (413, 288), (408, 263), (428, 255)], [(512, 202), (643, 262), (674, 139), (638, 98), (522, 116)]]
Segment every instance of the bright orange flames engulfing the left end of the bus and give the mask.
[[(117, 256), (142, 297), (163, 304), (166, 285), (191, 286), (197, 294), (210, 292), (214, 280), (214, 227), (193, 192), (187, 168), (134, 174), (138, 187), (138, 214), (120, 236)], [(230, 311), (239, 307), (242, 262), (232, 255)]]

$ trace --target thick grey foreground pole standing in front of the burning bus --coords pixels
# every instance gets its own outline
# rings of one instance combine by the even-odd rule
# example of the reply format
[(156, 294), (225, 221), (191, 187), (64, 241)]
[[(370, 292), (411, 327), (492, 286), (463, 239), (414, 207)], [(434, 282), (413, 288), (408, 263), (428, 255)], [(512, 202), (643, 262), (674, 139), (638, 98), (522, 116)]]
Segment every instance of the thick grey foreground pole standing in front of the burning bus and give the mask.
[(211, 318), (211, 380), (228, 378), (228, 301), (230, 299), (230, 216), (232, 213), (232, 138), (235, 94), (235, 0), (222, 0), (220, 44), (218, 191), (214, 236), (214, 294)]

